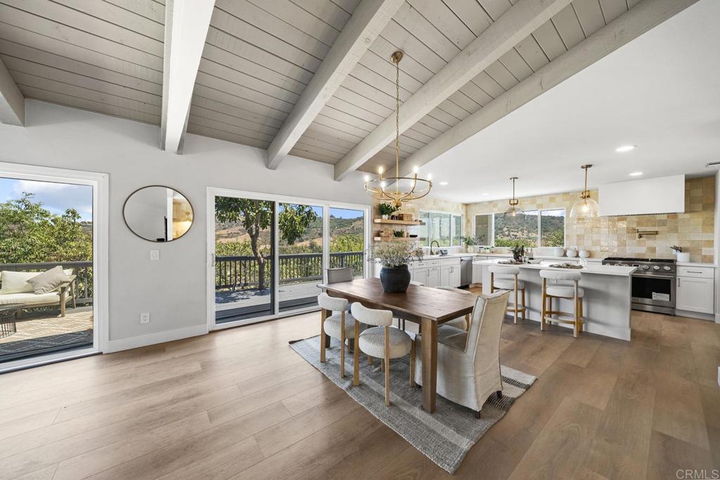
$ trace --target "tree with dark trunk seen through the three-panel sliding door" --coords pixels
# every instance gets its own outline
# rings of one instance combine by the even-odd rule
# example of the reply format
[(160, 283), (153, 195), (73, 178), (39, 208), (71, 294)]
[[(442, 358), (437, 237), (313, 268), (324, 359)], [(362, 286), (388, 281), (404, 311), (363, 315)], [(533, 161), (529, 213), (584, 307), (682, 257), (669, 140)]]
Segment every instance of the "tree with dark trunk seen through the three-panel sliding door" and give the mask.
[[(248, 198), (217, 197), (215, 198), (215, 219), (222, 223), (240, 222), (248, 236), (250, 249), (258, 264), (258, 289), (265, 289), (265, 264), (267, 259), (261, 253), (258, 238), (261, 231), (269, 229), (272, 223), (273, 203), (265, 200)], [(280, 236), (288, 244), (300, 239), (307, 226), (317, 214), (309, 206), (292, 206), (284, 204), (278, 217)]]

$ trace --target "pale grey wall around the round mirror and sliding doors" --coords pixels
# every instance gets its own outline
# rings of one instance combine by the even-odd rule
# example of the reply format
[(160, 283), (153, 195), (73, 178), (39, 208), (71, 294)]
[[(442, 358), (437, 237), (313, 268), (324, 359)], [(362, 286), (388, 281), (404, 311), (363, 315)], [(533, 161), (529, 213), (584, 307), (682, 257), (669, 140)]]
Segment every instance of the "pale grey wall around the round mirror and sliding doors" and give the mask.
[[(191, 134), (176, 155), (158, 148), (157, 126), (40, 101), (27, 101), (26, 114), (25, 127), (0, 124), (0, 162), (109, 173), (109, 338), (117, 345), (204, 328), (208, 186), (370, 205), (361, 175), (336, 182), (332, 165), (290, 157), (267, 170), (264, 150)], [(181, 239), (156, 244), (127, 229), (122, 205), (145, 185), (175, 188), (192, 203), (194, 223)], [(161, 250), (159, 262), (150, 249)], [(140, 312), (150, 312), (149, 324), (140, 325)]]

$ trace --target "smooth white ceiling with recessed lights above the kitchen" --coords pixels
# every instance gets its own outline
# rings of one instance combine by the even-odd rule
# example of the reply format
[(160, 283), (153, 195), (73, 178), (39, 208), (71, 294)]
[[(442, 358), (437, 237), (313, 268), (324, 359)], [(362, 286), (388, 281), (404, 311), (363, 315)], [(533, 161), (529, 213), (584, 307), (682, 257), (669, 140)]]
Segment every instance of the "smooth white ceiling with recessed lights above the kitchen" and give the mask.
[[(708, 175), (720, 160), (720, 2), (701, 0), (459, 144), (421, 170), (461, 202), (663, 175)], [(518, 141), (521, 139), (521, 141)], [(617, 153), (616, 147), (637, 146)], [(487, 195), (485, 195), (487, 193)]]

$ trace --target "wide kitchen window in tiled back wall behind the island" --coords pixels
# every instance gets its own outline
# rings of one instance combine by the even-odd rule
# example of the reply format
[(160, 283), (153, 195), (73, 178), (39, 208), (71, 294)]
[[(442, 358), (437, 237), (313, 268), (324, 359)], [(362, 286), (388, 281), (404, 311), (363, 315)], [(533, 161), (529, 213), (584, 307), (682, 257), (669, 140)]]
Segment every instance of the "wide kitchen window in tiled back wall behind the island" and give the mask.
[[(504, 213), (492, 215), (492, 229), (487, 227), (490, 218), (475, 216), (475, 235), (480, 239), (487, 231), (492, 231), (493, 246), (564, 246), (565, 210), (528, 210), (517, 216)], [(490, 233), (487, 234), (490, 236)], [(482, 244), (482, 243), (480, 243)]]

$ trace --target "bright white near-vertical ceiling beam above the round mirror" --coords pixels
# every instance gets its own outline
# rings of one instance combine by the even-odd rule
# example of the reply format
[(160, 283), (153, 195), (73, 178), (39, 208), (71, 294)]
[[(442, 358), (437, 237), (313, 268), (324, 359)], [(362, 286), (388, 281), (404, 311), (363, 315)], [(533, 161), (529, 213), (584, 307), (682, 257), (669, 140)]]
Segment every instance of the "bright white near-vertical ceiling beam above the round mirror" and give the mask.
[(163, 115), (160, 144), (177, 153), (182, 147), (215, 0), (168, 0), (165, 3)]

